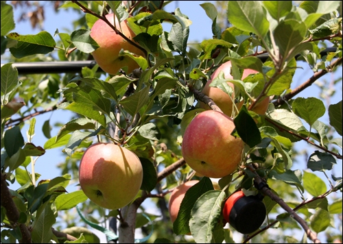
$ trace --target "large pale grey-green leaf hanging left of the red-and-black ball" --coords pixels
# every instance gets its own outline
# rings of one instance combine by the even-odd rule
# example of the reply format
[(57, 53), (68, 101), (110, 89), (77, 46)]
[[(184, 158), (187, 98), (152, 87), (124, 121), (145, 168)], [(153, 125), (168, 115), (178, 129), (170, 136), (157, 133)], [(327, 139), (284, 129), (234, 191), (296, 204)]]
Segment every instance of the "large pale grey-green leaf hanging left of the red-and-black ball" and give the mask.
[(211, 243), (214, 237), (213, 230), (222, 215), (222, 203), (225, 197), (224, 191), (207, 191), (194, 204), (189, 227), (197, 243)]

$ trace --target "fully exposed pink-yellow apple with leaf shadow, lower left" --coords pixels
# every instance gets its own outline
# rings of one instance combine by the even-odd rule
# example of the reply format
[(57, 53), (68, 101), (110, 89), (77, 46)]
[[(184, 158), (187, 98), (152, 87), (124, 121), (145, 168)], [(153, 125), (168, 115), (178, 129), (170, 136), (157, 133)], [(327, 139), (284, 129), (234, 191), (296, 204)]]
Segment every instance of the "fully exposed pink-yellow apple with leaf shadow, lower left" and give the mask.
[(95, 143), (84, 151), (80, 186), (95, 204), (108, 209), (128, 205), (143, 181), (143, 167), (132, 151), (112, 143)]

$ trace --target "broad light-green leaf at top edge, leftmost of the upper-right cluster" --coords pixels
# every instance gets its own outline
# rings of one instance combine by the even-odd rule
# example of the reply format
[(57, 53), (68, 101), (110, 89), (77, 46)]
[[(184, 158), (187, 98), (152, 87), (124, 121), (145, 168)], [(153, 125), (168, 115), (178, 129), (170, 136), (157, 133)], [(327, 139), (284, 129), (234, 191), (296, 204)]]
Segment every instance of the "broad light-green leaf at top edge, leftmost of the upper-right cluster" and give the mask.
[(238, 29), (257, 34), (268, 33), (269, 22), (259, 1), (228, 1), (228, 21)]

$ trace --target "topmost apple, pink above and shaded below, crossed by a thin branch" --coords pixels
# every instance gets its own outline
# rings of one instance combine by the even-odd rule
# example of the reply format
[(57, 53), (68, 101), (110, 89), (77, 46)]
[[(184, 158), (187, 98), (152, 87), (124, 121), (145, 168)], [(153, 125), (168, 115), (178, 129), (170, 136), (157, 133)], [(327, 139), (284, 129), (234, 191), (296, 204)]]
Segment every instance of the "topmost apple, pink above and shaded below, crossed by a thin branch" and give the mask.
[[(106, 19), (114, 25), (114, 14), (107, 14)], [(133, 40), (134, 32), (128, 27), (127, 21), (121, 22), (121, 29), (119, 27), (119, 21), (115, 18), (115, 26), (121, 31), (127, 38)], [(103, 71), (115, 75), (119, 69), (124, 66), (128, 66), (128, 73), (131, 73), (134, 69), (139, 68), (139, 64), (128, 56), (119, 56), (121, 49), (128, 50), (135, 53), (137, 56), (144, 56), (141, 49), (131, 45), (130, 42), (116, 34), (115, 31), (101, 19), (95, 21), (91, 29), (91, 37), (97, 42), (99, 48), (93, 51), (92, 55), (99, 64)]]

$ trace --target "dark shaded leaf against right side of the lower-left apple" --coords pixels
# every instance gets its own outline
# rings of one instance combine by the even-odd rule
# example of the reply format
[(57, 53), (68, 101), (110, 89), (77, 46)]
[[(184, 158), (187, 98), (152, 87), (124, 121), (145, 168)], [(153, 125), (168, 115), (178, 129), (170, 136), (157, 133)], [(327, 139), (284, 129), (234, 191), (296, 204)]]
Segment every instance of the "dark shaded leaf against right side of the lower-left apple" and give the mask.
[(147, 158), (139, 158), (143, 166), (143, 182), (141, 190), (152, 191), (157, 184), (157, 173), (154, 164)]

